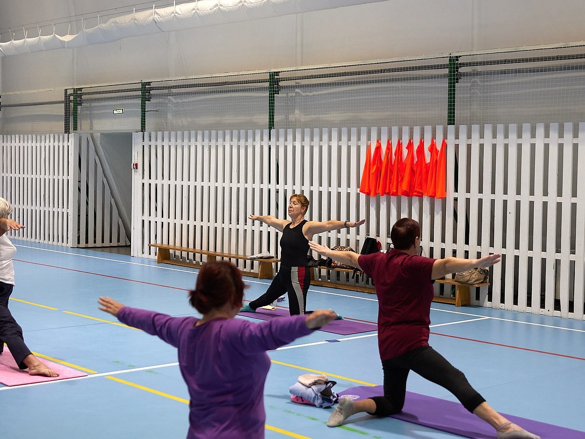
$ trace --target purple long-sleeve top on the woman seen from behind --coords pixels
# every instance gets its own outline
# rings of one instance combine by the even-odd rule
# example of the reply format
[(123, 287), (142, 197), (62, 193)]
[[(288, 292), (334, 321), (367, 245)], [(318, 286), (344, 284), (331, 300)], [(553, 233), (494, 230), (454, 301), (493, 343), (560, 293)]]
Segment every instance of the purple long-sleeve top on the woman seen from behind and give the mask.
[(312, 332), (304, 315), (262, 323), (215, 318), (195, 326), (195, 317), (123, 307), (118, 320), (177, 348), (190, 395), (187, 439), (263, 438), (266, 351)]

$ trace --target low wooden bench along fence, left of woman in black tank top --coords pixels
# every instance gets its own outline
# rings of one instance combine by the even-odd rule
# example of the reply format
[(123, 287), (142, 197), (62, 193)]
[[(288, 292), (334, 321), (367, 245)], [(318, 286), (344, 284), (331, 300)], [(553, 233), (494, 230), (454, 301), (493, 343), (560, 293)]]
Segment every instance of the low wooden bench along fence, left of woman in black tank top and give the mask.
[(223, 253), (223, 252), (212, 252), (209, 250), (199, 250), (189, 247), (179, 247), (176, 245), (168, 245), (168, 244), (149, 244), (149, 247), (157, 248), (156, 253), (156, 262), (157, 263), (167, 263), (173, 265), (181, 265), (184, 267), (193, 267), (193, 268), (201, 268), (203, 265), (197, 262), (187, 262), (177, 258), (171, 258), (171, 251), (172, 252), (183, 252), (183, 253), (192, 253), (194, 255), (206, 255), (207, 262), (211, 262), (212, 260), (216, 260), (216, 258), (227, 258), (227, 259), (243, 259), (249, 262), (256, 262), (259, 266), (258, 271), (252, 270), (242, 270), (243, 275), (246, 276), (254, 276), (258, 279), (272, 279), (274, 277), (274, 263), (279, 262), (280, 259), (277, 258), (270, 258), (270, 259), (248, 259), (245, 255), (235, 255), (233, 253)]

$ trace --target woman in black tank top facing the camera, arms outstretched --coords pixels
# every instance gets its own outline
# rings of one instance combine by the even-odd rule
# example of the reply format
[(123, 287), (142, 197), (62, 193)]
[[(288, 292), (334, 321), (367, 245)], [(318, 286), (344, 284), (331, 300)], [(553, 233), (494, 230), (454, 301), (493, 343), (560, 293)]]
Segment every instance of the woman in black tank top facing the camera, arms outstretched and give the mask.
[[(282, 232), (280, 238), (280, 270), (272, 283), (258, 299), (251, 301), (241, 311), (253, 313), (257, 308), (270, 305), (284, 293), (288, 294), (291, 315), (304, 314), (307, 306), (307, 291), (311, 285), (311, 272), (307, 267), (309, 241), (313, 235), (339, 230), (344, 227), (359, 227), (366, 222), (307, 221), (305, 214), (309, 200), (302, 194), (292, 194), (288, 202), (288, 219), (277, 219), (272, 215), (249, 215), (252, 221), (258, 220)], [(342, 318), (339, 315), (339, 318)]]

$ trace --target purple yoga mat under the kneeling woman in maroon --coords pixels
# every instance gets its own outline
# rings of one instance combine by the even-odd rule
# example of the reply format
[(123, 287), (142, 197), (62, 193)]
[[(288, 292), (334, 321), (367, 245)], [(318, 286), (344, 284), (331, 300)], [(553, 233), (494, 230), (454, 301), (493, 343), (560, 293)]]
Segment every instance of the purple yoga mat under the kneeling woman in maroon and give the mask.
[[(383, 386), (350, 387), (339, 393), (339, 397), (349, 396), (353, 400), (366, 399), (384, 394)], [(531, 419), (525, 419), (511, 414), (502, 413), (504, 417), (521, 426), (542, 439), (584, 439), (585, 432), (570, 428), (553, 426)], [(421, 426), (435, 428), (447, 433), (459, 434), (474, 439), (494, 438), (495, 432), (486, 422), (465, 410), (458, 402), (448, 401), (432, 396), (419, 395), (407, 392), (404, 408), (400, 413), (393, 414), (393, 418), (412, 422)]]

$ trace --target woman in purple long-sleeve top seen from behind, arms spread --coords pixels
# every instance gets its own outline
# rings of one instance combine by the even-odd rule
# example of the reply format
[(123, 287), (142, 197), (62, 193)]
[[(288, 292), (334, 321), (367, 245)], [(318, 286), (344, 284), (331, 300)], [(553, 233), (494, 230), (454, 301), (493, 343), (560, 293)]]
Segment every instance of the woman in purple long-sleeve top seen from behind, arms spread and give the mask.
[(336, 317), (331, 310), (316, 310), (259, 324), (236, 319), (244, 288), (238, 268), (220, 261), (202, 267), (189, 293), (202, 318), (171, 317), (99, 298), (102, 311), (177, 348), (190, 395), (188, 439), (263, 438), (264, 382), (270, 368), (266, 351)]

